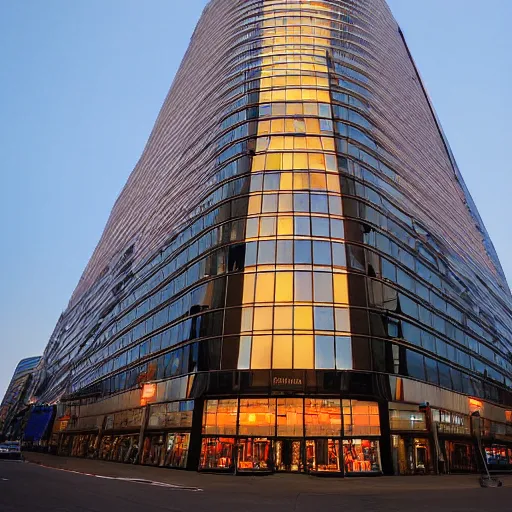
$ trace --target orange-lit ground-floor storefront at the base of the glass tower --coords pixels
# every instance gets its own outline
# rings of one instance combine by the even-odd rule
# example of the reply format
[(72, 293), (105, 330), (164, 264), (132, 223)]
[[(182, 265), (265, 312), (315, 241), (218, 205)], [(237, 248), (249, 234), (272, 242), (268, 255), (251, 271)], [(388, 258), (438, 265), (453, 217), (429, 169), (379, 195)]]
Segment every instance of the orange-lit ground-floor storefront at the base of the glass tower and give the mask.
[(52, 435), (58, 454), (232, 474), (476, 473), (484, 460), (512, 470), (506, 428), (488, 422), (503, 437), (479, 445), (470, 414), (371, 397), (208, 397), (86, 419), (94, 431)]

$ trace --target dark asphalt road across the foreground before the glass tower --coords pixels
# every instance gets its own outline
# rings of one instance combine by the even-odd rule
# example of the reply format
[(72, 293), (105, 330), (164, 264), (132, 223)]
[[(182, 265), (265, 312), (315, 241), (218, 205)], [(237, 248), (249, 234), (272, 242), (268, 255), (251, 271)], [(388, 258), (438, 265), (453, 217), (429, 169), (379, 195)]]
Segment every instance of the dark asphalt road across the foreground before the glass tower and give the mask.
[(474, 476), (355, 480), (196, 474), (187, 476), (183, 487), (178, 477), (172, 483), (178, 473), (161, 471), (165, 486), (0, 462), (0, 511), (494, 512), (510, 510), (512, 503), (512, 481), (499, 489), (482, 489)]

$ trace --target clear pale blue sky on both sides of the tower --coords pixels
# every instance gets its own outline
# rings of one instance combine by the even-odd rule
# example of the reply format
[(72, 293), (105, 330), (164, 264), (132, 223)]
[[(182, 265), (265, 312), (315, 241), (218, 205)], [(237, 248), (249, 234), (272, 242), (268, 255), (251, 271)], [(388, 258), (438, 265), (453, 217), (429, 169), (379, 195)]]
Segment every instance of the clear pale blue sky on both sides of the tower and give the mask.
[[(389, 0), (512, 282), (510, 0)], [(41, 354), (206, 0), (0, 1), (0, 400)]]

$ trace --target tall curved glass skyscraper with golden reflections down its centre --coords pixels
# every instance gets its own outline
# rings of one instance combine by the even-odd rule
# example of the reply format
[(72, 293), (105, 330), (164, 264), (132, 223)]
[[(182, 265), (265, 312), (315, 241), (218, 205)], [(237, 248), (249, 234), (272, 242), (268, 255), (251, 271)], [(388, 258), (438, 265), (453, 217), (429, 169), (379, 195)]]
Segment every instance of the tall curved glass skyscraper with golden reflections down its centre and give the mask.
[(212, 0), (33, 396), (64, 454), (503, 467), (511, 311), (385, 1)]

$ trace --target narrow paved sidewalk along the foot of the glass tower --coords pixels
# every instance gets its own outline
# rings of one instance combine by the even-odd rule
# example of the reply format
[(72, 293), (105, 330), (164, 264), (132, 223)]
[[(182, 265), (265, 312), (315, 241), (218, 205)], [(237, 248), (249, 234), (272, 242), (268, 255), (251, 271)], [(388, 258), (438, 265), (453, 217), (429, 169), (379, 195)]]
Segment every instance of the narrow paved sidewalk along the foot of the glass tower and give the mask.
[[(44, 453), (24, 452), (27, 462), (42, 466), (114, 478), (152, 480), (165, 484), (196, 487), (226, 492), (324, 492), (381, 494), (428, 490), (479, 488), (479, 475), (446, 475), (374, 478), (322, 478), (307, 475), (274, 474), (270, 476), (238, 476), (196, 473), (165, 468), (120, 464), (99, 460), (58, 457)], [(504, 486), (512, 487), (512, 476), (500, 476)]]

